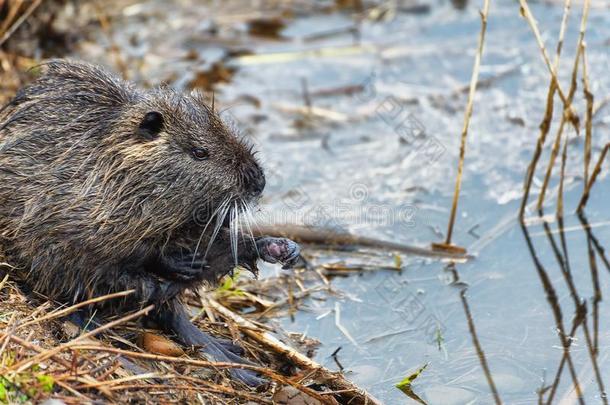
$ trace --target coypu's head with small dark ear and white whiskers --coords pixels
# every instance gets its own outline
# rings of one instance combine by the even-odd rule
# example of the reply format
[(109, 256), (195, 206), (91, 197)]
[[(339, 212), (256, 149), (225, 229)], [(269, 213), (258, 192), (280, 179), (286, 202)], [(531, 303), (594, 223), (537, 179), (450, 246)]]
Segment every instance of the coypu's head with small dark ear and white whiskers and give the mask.
[(215, 214), (244, 210), (260, 197), (265, 175), (252, 145), (201, 96), (154, 90), (124, 114), (119, 132), (123, 140), (132, 139), (120, 142), (117, 152), (124, 167), (154, 185), (153, 195), (142, 202), (144, 211), (163, 215), (166, 210), (182, 224), (195, 216), (200, 225)]

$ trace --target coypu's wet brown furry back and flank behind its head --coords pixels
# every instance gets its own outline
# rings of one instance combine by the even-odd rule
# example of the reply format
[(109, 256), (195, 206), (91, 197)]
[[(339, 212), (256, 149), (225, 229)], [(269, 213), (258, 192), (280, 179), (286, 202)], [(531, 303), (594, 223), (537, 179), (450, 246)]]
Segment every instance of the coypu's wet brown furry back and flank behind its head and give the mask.
[(3, 109), (0, 241), (15, 265), (32, 273), (36, 289), (59, 296), (94, 283), (93, 273), (71, 274), (87, 265), (79, 248), (108, 260), (87, 240), (98, 224), (91, 218), (96, 198), (83, 186), (95, 175), (104, 138), (137, 97), (95, 66), (51, 62)]

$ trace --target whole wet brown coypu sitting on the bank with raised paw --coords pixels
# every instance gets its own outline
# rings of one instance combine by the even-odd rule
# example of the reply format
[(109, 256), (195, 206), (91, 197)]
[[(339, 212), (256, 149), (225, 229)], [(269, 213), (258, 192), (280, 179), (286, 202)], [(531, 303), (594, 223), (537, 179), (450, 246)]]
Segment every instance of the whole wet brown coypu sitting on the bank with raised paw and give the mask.
[(242, 233), (265, 187), (251, 146), (201, 96), (143, 91), (84, 62), (42, 70), (0, 110), (0, 250), (53, 300), (134, 289), (104, 310), (153, 303), (149, 317), (181, 343), (246, 362), (194, 326), (180, 297), (236, 264), (256, 274), (258, 259), (298, 259), (291, 240)]

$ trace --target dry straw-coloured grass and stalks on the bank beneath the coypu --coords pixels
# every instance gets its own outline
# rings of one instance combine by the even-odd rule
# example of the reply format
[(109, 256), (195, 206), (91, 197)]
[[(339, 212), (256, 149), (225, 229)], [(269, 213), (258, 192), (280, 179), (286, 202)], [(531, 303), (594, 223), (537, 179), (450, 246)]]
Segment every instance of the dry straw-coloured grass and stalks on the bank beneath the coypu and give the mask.
[[(50, 395), (66, 403), (94, 400), (273, 403), (287, 387), (292, 387), (292, 395), (296, 392), (311, 403), (378, 403), (341, 374), (324, 369), (294, 349), (300, 346), (307, 352), (313, 351), (314, 346), (304, 336), (288, 342), (292, 345), (286, 344), (273, 337), (269, 327), (261, 323), (308, 295), (305, 288), (296, 298), (293, 295), (292, 300), (278, 298), (278, 294), (288, 295), (288, 288), (281, 286), (300, 289), (311, 284), (312, 277), (318, 278), (314, 272), (308, 274), (309, 279), (296, 273), (282, 280), (242, 281), (205, 295), (205, 299), (188, 297), (188, 304), (197, 314), (197, 324), (237, 341), (257, 364), (254, 366), (207, 361), (188, 348), (178, 357), (150, 353), (143, 347), (141, 337), (160, 335), (144, 329), (135, 320), (151, 306), (108, 320), (87, 333), (73, 335), (72, 325), (61, 317), (82, 304), (56, 309), (54, 303), (32, 301), (6, 276), (0, 283), (0, 385), (4, 387), (4, 394), (0, 388), (0, 395), (17, 403)], [(245, 307), (255, 308), (248, 319), (239, 314), (240, 308)], [(225, 372), (230, 368), (255, 370), (269, 384), (253, 391), (232, 380)], [(312, 383), (317, 384), (317, 390), (309, 387)]]

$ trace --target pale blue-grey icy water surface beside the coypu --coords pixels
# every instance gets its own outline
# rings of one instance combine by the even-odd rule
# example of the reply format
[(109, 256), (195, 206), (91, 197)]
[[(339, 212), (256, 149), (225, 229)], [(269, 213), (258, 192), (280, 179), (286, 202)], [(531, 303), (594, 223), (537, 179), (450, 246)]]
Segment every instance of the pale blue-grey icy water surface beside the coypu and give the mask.
[[(407, 244), (444, 238), (480, 4), (460, 11), (429, 2), (423, 13), (399, 6), (360, 22), (350, 11), (297, 5), (281, 38), (246, 35), (239, 5), (206, 4), (135, 3), (121, 10), (112, 35), (140, 82), (187, 88), (215, 63), (232, 72), (216, 97), (261, 150), (267, 220)], [(589, 75), (601, 101), (610, 94), (610, 8), (592, 4)], [(531, 7), (552, 52), (562, 7)], [(566, 89), (580, 13), (576, 2), (560, 65)], [(102, 55), (95, 44), (106, 40), (100, 33), (80, 55)], [(532, 404), (542, 393), (553, 403), (605, 401), (610, 267), (601, 253), (610, 243), (610, 189), (602, 176), (587, 219), (571, 214), (582, 190), (582, 136), (570, 133), (565, 232), (552, 216), (526, 228), (516, 221), (548, 82), (518, 3), (492, 1), (453, 238), (476, 258), (449, 267), (403, 257), (400, 272), (333, 279), (337, 298), (306, 301), (283, 321), (322, 342), (319, 362), (337, 369), (331, 354), (341, 347), (347, 375), (387, 404), (415, 403), (394, 385), (425, 364), (414, 391), (428, 404)], [(608, 111), (594, 119), (595, 159), (608, 142)], [(564, 350), (561, 333), (573, 328)]]

